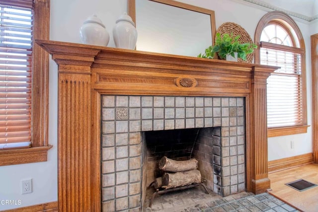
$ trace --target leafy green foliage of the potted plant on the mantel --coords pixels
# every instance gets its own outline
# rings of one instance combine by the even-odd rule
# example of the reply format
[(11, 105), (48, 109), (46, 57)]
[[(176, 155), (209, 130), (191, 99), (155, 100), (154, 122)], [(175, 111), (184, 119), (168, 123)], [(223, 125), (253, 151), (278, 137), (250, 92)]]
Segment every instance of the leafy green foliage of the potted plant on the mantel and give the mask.
[(254, 43), (241, 44), (239, 43), (239, 37), (239, 35), (234, 36), (233, 33), (225, 33), (222, 36), (220, 33), (217, 33), (214, 46), (209, 46), (205, 49), (205, 53), (200, 53), (198, 57), (213, 59), (215, 53), (218, 53), (221, 59), (226, 59), (227, 55), (235, 57), (237, 53), (238, 58), (246, 60), (246, 56), (253, 53), (254, 49), (257, 48), (257, 45)]

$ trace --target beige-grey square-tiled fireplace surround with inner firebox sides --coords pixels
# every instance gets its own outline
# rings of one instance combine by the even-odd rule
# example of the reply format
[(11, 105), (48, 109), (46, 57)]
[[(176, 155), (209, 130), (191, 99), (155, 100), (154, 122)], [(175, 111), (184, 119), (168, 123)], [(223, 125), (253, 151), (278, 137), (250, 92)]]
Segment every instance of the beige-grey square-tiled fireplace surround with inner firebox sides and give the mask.
[(243, 97), (103, 95), (103, 211), (141, 207), (146, 187), (158, 177), (156, 153), (168, 156), (178, 150), (169, 145), (162, 152), (164, 146), (158, 143), (146, 154), (149, 144), (142, 132), (193, 128), (202, 129), (195, 145), (193, 141), (186, 149), (185, 141), (183, 145), (180, 141), (185, 153), (177, 156), (192, 152), (207, 187), (219, 195), (245, 191)]

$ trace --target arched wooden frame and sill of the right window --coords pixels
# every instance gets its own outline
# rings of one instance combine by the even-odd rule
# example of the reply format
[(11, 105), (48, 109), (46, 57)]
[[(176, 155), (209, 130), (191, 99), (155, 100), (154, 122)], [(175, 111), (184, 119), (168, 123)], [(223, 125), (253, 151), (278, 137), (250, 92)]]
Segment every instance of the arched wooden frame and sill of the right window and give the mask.
[[(303, 35), (297, 26), (296, 22), (286, 13), (281, 11), (272, 11), (265, 14), (258, 22), (255, 35), (254, 35), (254, 43), (260, 46), (260, 37), (263, 29), (271, 23), (279, 24), (284, 27), (288, 33), (291, 33), (289, 28), (285, 23), (289, 24), (296, 33), (296, 36), (299, 40), (300, 49), (303, 51), (301, 54), (301, 69), (302, 69), (302, 125), (299, 126), (289, 126), (289, 127), (277, 127), (277, 128), (267, 128), (267, 137), (277, 137), (277, 136), (287, 136), (287, 135), (295, 135), (307, 133), (308, 125), (307, 125), (307, 84), (306, 84), (306, 49), (305, 49), (305, 41)], [(294, 36), (292, 36), (292, 41), (295, 44)], [(282, 49), (284, 51), (284, 49)], [(255, 64), (260, 64), (260, 48), (255, 50)]]

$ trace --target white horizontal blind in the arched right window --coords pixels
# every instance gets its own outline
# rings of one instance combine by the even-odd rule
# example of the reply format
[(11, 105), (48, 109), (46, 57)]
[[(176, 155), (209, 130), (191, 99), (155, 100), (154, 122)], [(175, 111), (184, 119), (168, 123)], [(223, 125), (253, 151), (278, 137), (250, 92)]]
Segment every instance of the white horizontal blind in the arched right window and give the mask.
[(261, 64), (279, 66), (267, 79), (267, 127), (302, 125), (301, 54), (295, 48), (260, 48)]

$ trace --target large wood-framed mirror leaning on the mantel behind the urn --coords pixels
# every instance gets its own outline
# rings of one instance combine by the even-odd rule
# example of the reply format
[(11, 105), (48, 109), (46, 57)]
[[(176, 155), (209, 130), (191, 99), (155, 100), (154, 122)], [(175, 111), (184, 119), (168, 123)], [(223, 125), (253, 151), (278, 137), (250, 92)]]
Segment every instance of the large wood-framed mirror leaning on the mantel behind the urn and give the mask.
[(213, 10), (174, 0), (128, 0), (139, 51), (197, 57), (213, 44)]

